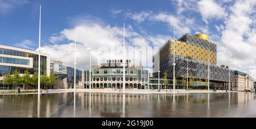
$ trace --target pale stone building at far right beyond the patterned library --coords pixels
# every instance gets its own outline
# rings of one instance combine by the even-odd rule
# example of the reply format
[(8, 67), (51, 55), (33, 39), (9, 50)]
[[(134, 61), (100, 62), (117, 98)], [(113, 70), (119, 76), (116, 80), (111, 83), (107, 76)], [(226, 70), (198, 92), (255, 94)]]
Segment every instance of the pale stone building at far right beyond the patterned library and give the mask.
[(238, 70), (234, 71), (234, 81), (232, 82), (232, 90), (244, 91), (253, 90), (254, 80), (246, 73), (242, 73)]

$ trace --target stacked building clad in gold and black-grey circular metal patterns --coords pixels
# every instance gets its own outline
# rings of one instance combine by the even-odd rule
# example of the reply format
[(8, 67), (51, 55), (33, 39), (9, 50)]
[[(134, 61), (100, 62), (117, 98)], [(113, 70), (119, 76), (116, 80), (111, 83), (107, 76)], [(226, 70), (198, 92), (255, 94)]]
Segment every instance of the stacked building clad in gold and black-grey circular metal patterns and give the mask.
[[(168, 78), (173, 78), (173, 58), (175, 44), (175, 77), (197, 78), (201, 80), (208, 79), (208, 54), (210, 49), (210, 82), (228, 82), (229, 69), (216, 65), (216, 44), (210, 41), (197, 38), (196, 36), (185, 34), (177, 41), (169, 40), (159, 50), (160, 59), (153, 57), (153, 69), (160, 70), (160, 77), (164, 73), (168, 73)], [(160, 64), (158, 61), (160, 60)], [(153, 73), (154, 77), (158, 77), (158, 73)], [(233, 81), (234, 71), (230, 70), (230, 81)]]

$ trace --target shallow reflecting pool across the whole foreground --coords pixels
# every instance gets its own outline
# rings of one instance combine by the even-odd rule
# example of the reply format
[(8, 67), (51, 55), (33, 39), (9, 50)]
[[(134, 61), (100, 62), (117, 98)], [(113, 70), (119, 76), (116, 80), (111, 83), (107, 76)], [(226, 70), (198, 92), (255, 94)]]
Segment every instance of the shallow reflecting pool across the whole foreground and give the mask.
[(256, 117), (254, 93), (0, 95), (0, 117)]

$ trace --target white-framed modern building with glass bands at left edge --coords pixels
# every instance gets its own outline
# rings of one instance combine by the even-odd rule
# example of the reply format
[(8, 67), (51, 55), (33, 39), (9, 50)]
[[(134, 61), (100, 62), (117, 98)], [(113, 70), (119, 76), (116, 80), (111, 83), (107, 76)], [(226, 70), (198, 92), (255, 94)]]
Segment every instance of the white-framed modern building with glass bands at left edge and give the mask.
[[(50, 55), (41, 53), (41, 73), (50, 74)], [(28, 70), (31, 74), (38, 72), (39, 53), (28, 49), (0, 45), (0, 80), (6, 73), (17, 70), (23, 74)]]

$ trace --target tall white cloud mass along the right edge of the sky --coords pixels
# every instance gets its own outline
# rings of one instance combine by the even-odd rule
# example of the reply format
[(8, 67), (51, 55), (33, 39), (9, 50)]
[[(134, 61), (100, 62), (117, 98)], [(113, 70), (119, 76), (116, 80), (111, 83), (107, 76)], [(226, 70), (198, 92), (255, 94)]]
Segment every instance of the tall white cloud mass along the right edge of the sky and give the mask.
[[(230, 59), (232, 69), (251, 73), (256, 78), (254, 51), (255, 28), (251, 27), (255, 22), (253, 14), (256, 1), (236, 1), (230, 6), (230, 13), (221, 29), (222, 47), (219, 48), (218, 64), (227, 64)], [(230, 55), (230, 56), (226, 56)], [(232, 57), (231, 57), (232, 56)]]

